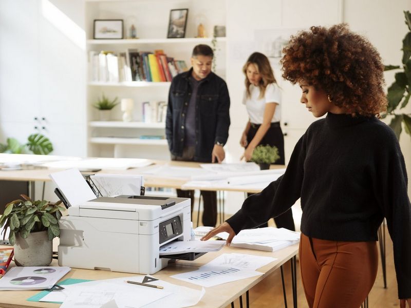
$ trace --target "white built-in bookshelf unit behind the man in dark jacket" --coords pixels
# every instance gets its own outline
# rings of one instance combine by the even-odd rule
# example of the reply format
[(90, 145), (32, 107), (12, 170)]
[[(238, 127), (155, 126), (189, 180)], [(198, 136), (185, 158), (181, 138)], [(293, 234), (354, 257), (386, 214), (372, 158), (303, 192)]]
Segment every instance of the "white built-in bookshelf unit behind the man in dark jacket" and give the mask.
[[(165, 38), (172, 9), (189, 9), (184, 38)], [(225, 1), (86, 1), (86, 46), (87, 54), (102, 50), (114, 53), (138, 49), (139, 52), (154, 52), (161, 49), (167, 56), (185, 61), (190, 67), (194, 46), (212, 46), (214, 26), (225, 26)], [(124, 21), (124, 39), (94, 40), (94, 20), (120, 19)], [(195, 37), (201, 22), (209, 37)], [(137, 29), (138, 39), (128, 39), (131, 24)], [(226, 38), (217, 37), (215, 46), (216, 73), (226, 76)], [(90, 59), (89, 59), (90, 60)], [(88, 62), (90, 68), (90, 61)], [(87, 81), (87, 121), (88, 156), (138, 157), (169, 159), (170, 153), (165, 139), (164, 123), (144, 123), (143, 102), (163, 101), (167, 103), (170, 82), (100, 82), (91, 81), (88, 68)], [(120, 105), (111, 110), (111, 121), (98, 121), (98, 110), (92, 104), (104, 93), (119, 101), (123, 98), (134, 100), (133, 121), (122, 122)], [(150, 139), (150, 136), (156, 138)]]

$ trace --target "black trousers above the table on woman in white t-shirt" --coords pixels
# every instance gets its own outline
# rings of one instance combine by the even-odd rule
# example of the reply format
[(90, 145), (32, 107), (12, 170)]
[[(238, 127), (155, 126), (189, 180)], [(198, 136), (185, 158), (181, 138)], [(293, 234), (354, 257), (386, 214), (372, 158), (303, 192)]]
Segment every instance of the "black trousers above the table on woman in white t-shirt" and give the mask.
[[(247, 133), (247, 143), (250, 144), (253, 140), (255, 133), (261, 124), (251, 123), (251, 127)], [(285, 154), (284, 154), (284, 136), (279, 122), (272, 122), (270, 128), (267, 130), (263, 139), (261, 139), (258, 145), (271, 145), (278, 148), (279, 159), (274, 163), (274, 165), (285, 165)]]

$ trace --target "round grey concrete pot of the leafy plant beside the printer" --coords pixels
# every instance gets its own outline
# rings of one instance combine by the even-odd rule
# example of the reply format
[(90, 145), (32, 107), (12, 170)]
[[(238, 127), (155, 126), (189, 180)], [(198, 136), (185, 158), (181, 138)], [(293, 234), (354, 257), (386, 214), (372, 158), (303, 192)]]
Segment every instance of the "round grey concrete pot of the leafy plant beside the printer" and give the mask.
[(53, 242), (47, 231), (31, 232), (27, 239), (16, 234), (14, 261), (19, 266), (48, 266), (53, 257)]

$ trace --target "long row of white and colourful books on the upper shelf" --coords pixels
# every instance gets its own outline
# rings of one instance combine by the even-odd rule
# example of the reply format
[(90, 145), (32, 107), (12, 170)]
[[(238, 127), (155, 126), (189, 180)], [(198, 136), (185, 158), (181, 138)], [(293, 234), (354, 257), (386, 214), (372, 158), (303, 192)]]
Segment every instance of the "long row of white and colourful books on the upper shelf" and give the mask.
[(89, 68), (94, 82), (166, 82), (188, 70), (185, 61), (175, 60), (161, 49), (140, 52), (133, 48), (118, 53), (90, 51)]

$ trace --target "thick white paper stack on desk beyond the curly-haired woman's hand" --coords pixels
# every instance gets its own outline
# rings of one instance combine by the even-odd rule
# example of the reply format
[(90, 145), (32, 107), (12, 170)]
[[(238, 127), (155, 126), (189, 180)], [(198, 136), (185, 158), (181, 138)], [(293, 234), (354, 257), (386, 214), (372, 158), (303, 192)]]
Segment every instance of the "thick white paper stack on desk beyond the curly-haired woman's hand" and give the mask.
[[(228, 233), (221, 233), (219, 236), (227, 240)], [(296, 244), (298, 241), (300, 241), (299, 232), (285, 228), (266, 227), (241, 230), (233, 238), (231, 246), (273, 252)]]

